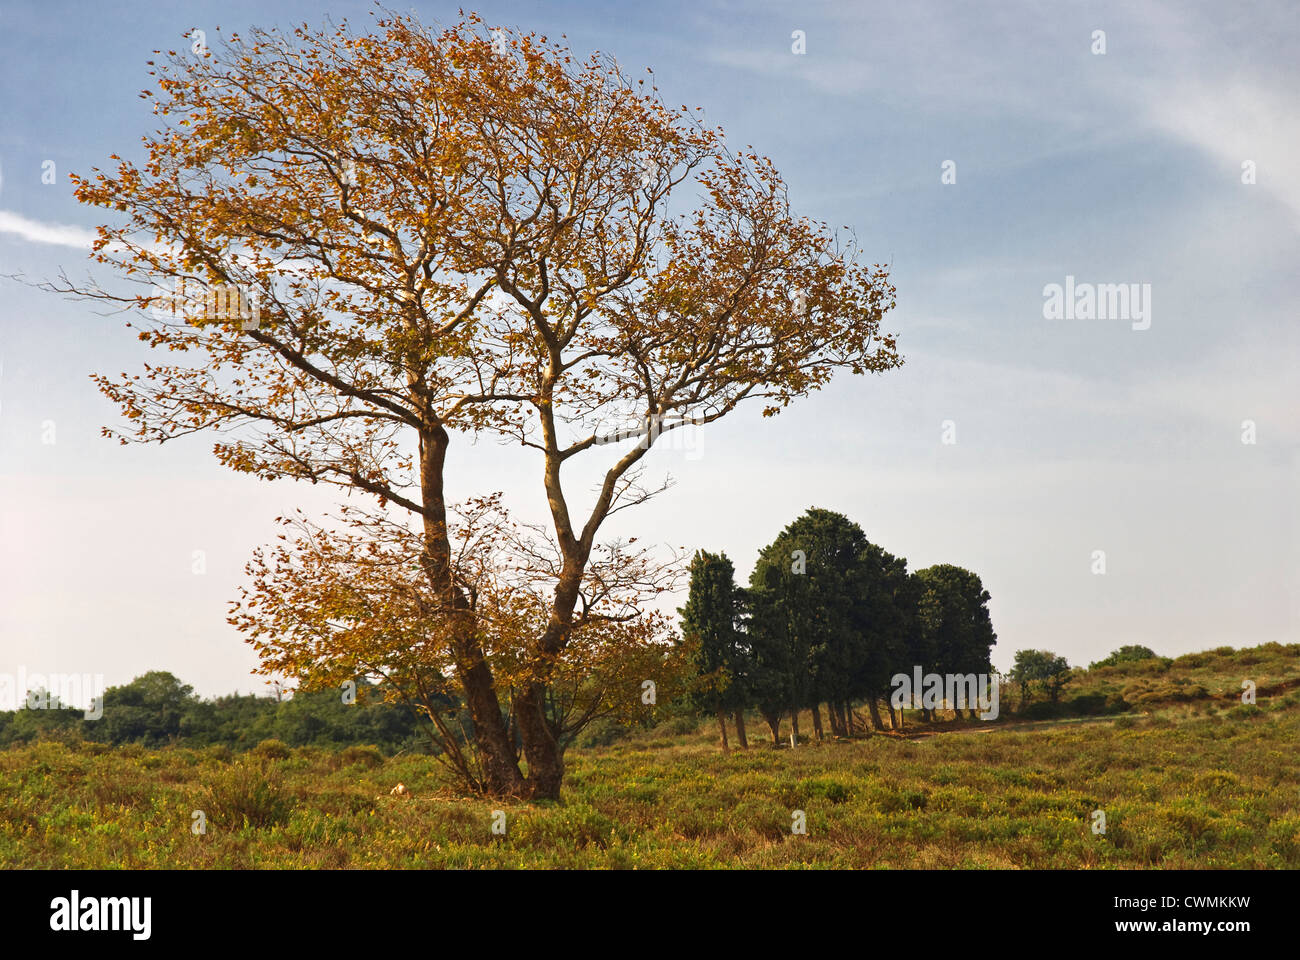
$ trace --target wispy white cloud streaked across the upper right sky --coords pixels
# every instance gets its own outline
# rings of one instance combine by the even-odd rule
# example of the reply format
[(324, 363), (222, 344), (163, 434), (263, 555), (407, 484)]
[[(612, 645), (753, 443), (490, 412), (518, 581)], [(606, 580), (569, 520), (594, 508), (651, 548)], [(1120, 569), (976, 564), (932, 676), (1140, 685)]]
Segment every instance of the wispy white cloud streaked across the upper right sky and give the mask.
[[(806, 56), (792, 56), (784, 40), (755, 49), (728, 36), (710, 59), (815, 95), (987, 117), (1008, 135), (1037, 131), (1044, 144), (1095, 148), (1154, 134), (1238, 176), (1252, 160), (1260, 190), (1300, 226), (1300, 118), (1290, 95), (1300, 77), (1280, 40), (1295, 30), (1291, 4), (1253, 7), (1249, 30), (1225, 22), (1213, 3), (810, 9), (816, 17), (805, 20), (820, 20), (820, 30), (809, 31)], [(784, 12), (771, 18), (800, 26)], [(1108, 36), (1105, 56), (1089, 51), (1095, 29)], [(1044, 157), (1035, 150), (1028, 159)]]

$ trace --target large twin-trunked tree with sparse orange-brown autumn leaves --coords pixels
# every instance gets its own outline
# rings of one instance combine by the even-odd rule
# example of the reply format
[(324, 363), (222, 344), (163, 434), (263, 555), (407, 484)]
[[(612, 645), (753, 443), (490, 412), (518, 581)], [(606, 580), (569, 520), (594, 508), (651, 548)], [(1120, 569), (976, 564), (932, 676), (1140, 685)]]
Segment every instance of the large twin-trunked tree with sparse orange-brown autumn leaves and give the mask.
[[(79, 200), (125, 215), (95, 260), (142, 286), (47, 285), (146, 313), (140, 340), (164, 356), (96, 379), (131, 424), (105, 432), (211, 432), (237, 471), (370, 496), (356, 526), (311, 527), (255, 570), (292, 594), (255, 589), (234, 615), (264, 669), (306, 688), (365, 660), (430, 713), (455, 688), (472, 786), (558, 796), (556, 674), (662, 632), (616, 626), (664, 581), (644, 563), (611, 583), (627, 558), (598, 541), (656, 492), (638, 483), (647, 451), (741, 403), (775, 415), (836, 371), (900, 366), (880, 330), (887, 272), (792, 213), (771, 161), (732, 153), (611, 59), (473, 14), (441, 31), (399, 14), (369, 34), (252, 30), (160, 61), (147, 160), (74, 178)], [(454, 440), (480, 434), (538, 458), (549, 553), (519, 576), (478, 566), (503, 535), (458, 553), (447, 476), (473, 449)], [(584, 503), (566, 468), (593, 458)], [(342, 552), (364, 555), (368, 535), (393, 566), (354, 591)], [(593, 575), (602, 550), (619, 562)]]

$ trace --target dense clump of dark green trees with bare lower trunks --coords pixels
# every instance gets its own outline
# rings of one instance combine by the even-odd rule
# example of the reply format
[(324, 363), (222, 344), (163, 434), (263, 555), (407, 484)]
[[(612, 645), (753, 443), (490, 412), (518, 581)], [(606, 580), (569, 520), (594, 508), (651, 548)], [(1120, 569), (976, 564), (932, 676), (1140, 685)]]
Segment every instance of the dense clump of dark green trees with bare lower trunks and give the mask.
[[(748, 588), (736, 584), (725, 553), (698, 550), (679, 613), (682, 639), (694, 647), (696, 702), (718, 718), (728, 749), (728, 717), (748, 745), (746, 710), (763, 717), (774, 743), (788, 715), (792, 745), (801, 710), (811, 712), (814, 735), (826, 735), (823, 706), (835, 736), (858, 732), (859, 702), (884, 730), (883, 700), (898, 728), (894, 674), (916, 666), (992, 674), (988, 601), (970, 570), (940, 563), (909, 572), (906, 559), (870, 542), (857, 523), (814, 507), (759, 552)], [(932, 719), (932, 710), (923, 717)]]

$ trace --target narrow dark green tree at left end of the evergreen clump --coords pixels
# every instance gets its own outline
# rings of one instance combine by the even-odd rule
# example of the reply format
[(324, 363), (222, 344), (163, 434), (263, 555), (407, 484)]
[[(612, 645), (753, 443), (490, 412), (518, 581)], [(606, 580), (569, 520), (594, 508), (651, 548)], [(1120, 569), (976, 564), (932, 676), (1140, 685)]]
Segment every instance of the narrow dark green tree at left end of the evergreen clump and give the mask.
[(690, 592), (681, 614), (682, 637), (693, 643), (699, 687), (698, 706), (718, 718), (723, 751), (727, 745), (727, 714), (736, 718), (736, 739), (748, 747), (745, 708), (749, 706), (749, 650), (740, 623), (744, 618), (736, 568), (725, 553), (697, 550), (690, 561)]

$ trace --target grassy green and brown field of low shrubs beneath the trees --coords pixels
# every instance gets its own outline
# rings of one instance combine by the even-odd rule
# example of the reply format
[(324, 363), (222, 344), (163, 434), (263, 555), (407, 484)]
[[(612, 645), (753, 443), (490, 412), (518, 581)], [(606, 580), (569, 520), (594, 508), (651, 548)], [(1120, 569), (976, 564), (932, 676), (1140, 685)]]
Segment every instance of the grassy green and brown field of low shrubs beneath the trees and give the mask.
[[(559, 804), (460, 797), (430, 757), (369, 748), (36, 743), (0, 752), (0, 865), (1300, 868), (1294, 648), (1193, 657), (1157, 679), (1202, 692), (1098, 718), (729, 754), (658, 727), (572, 751)], [(1145, 682), (1110, 670), (1078, 689)]]

